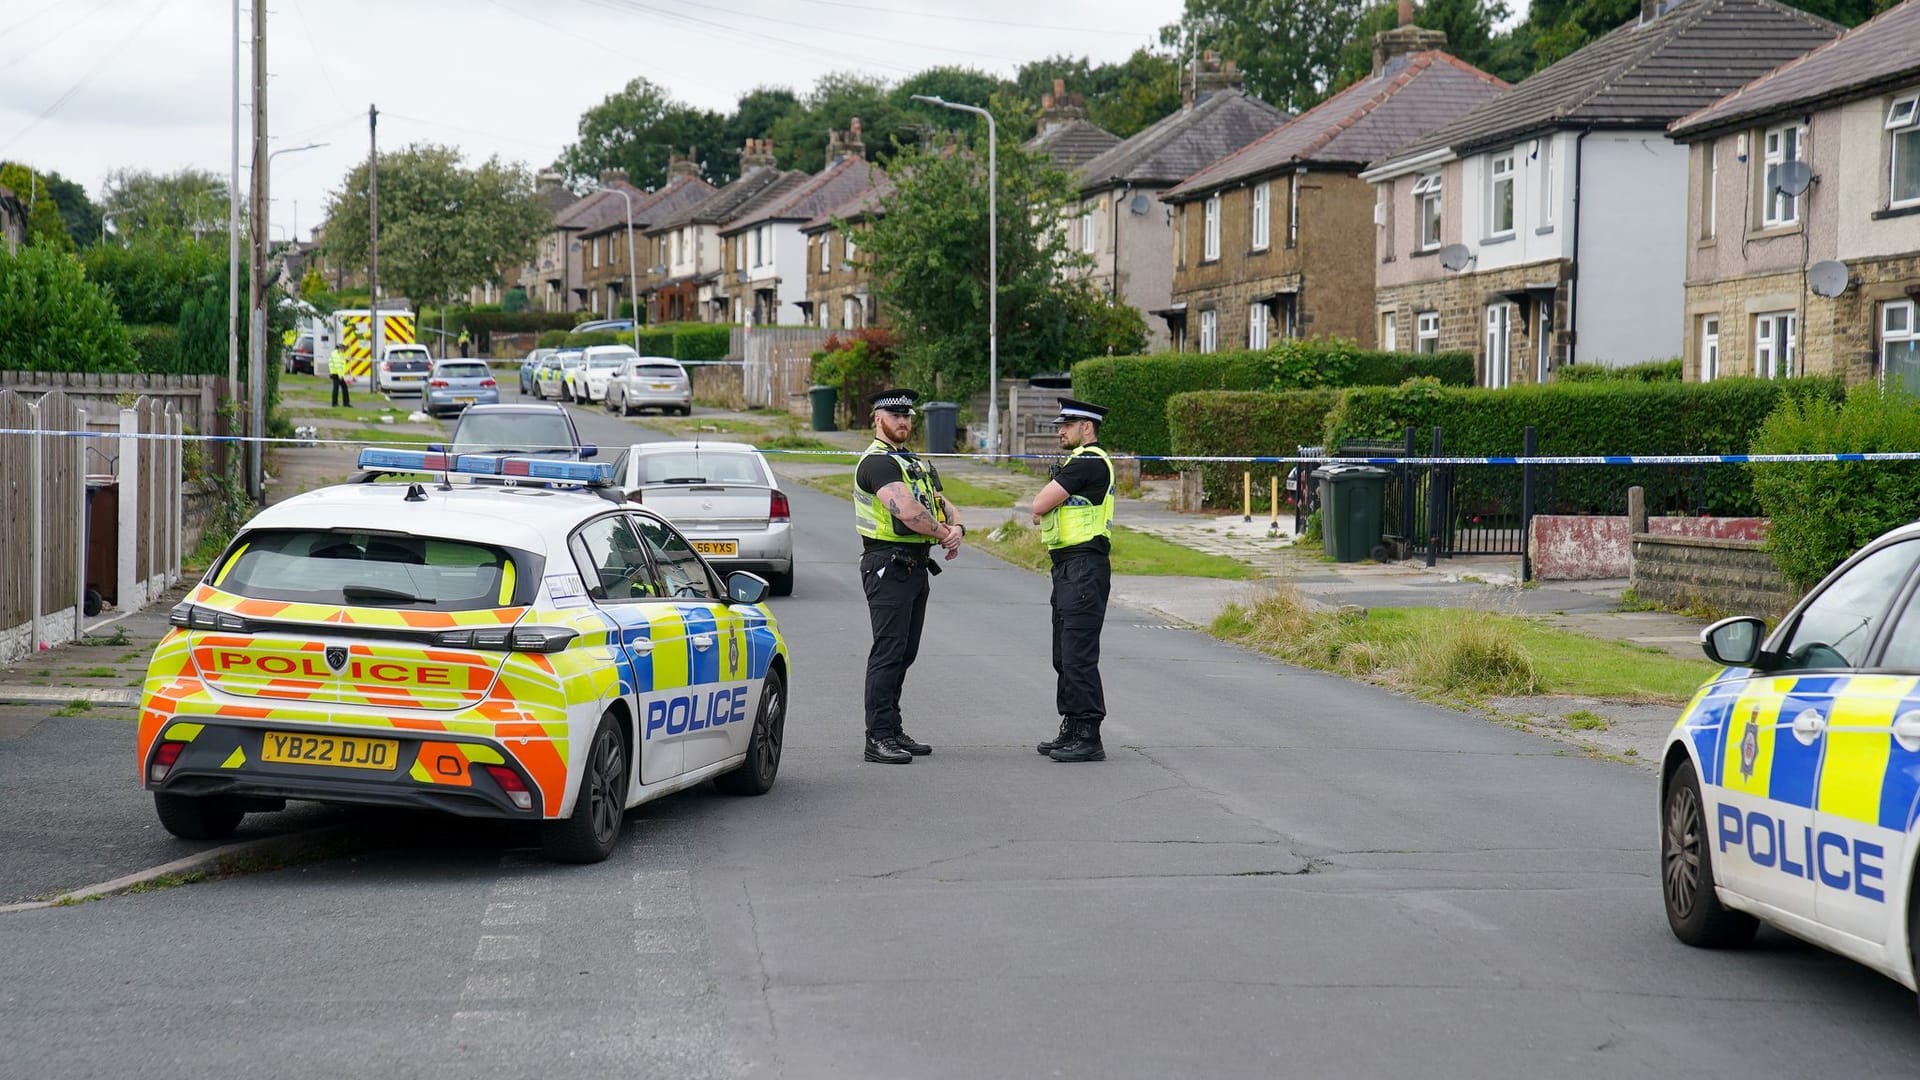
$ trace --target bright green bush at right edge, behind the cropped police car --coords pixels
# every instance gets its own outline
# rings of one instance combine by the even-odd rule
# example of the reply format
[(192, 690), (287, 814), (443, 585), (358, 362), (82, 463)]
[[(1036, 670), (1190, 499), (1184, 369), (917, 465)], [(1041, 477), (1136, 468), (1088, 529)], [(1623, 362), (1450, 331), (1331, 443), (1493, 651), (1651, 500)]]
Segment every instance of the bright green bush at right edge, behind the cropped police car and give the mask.
[[(1903, 390), (1855, 386), (1845, 404), (1784, 398), (1753, 438), (1753, 454), (1874, 454), (1920, 450), (1920, 402)], [(1916, 461), (1749, 465), (1753, 494), (1772, 519), (1766, 548), (1795, 588), (1812, 588), (1862, 544), (1914, 519)]]

